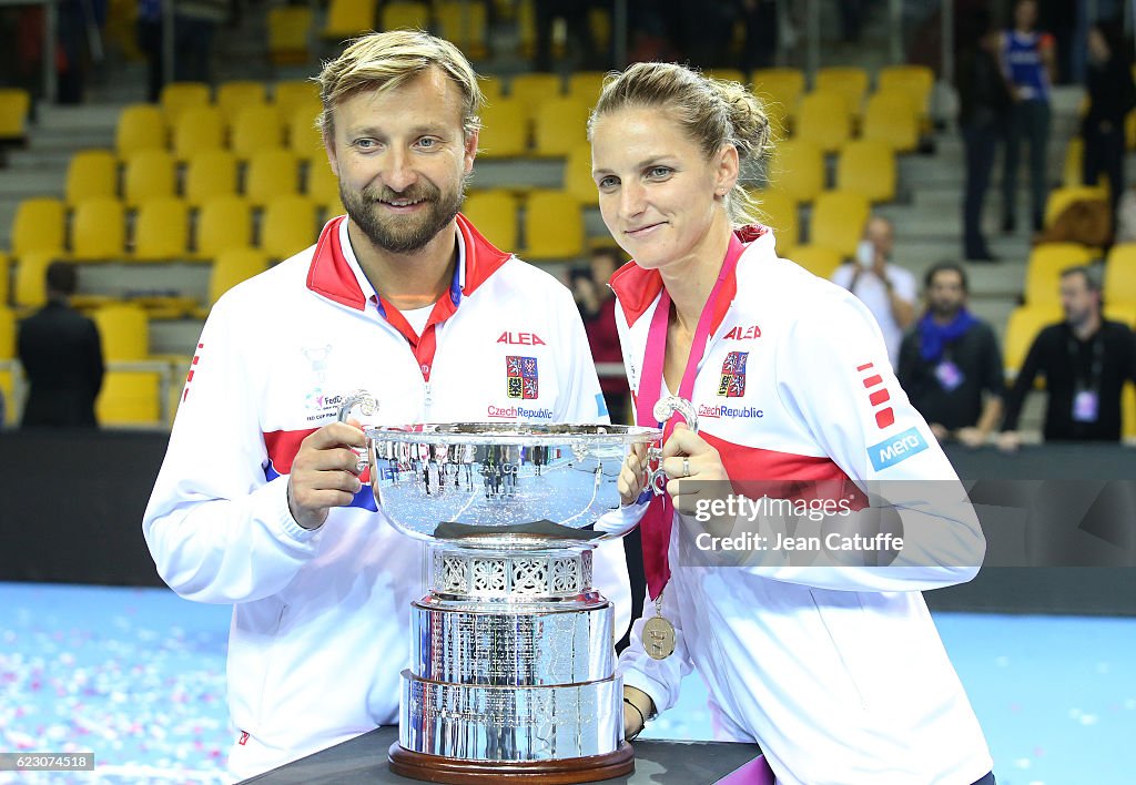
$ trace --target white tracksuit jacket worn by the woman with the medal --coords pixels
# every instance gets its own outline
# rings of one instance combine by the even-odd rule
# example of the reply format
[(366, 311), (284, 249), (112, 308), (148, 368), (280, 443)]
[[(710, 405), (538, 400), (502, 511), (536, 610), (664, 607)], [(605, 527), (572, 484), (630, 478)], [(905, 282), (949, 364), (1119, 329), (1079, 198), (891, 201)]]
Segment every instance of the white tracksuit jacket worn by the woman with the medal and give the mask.
[[(693, 401), (735, 492), (747, 479), (828, 479), (853, 493), (853, 481), (945, 482), (885, 485), (910, 535), (895, 562), (905, 566), (802, 567), (778, 554), (760, 567), (683, 566), (694, 535), (676, 520), (663, 616), (677, 649), (650, 659), (636, 621), (620, 659), (625, 683), (662, 711), (696, 668), (716, 735), (758, 741), (785, 785), (969, 785), (991, 770), (991, 755), (920, 590), (977, 573), (985, 540), (974, 510), (863, 304), (778, 259), (768, 229), (745, 237)], [(634, 265), (612, 281), (636, 392), (660, 286), (658, 273)], [(944, 487), (958, 490), (947, 503)], [(643, 509), (624, 508), (623, 524)], [(932, 542), (919, 536), (927, 533)], [(644, 618), (653, 615), (649, 602)]]

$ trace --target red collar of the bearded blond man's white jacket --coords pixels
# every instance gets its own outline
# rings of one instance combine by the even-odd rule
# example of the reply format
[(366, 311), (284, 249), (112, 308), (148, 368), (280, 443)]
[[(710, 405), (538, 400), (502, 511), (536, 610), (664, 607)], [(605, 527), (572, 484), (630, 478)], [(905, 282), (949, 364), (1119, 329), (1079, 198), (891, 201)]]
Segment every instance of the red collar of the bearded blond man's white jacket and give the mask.
[[(332, 218), (319, 233), (316, 252), (308, 268), (308, 289), (348, 308), (361, 311), (367, 307), (359, 282), (340, 247), (340, 224), (345, 216)], [(461, 293), (469, 297), (498, 270), (511, 253), (499, 251), (461, 214), (458, 214), (458, 232), (466, 249), (466, 275)], [(449, 301), (449, 298), (444, 299)]]

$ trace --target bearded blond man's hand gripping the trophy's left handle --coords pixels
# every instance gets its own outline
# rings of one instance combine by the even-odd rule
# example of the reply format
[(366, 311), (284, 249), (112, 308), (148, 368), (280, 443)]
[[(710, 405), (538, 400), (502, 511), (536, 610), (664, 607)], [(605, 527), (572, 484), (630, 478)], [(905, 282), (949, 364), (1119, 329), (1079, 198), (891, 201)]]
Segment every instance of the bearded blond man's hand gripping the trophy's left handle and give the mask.
[(362, 487), (354, 449), (367, 448), (358, 423), (332, 423), (309, 434), (292, 460), (287, 507), (303, 528), (319, 528), (333, 507), (345, 507)]

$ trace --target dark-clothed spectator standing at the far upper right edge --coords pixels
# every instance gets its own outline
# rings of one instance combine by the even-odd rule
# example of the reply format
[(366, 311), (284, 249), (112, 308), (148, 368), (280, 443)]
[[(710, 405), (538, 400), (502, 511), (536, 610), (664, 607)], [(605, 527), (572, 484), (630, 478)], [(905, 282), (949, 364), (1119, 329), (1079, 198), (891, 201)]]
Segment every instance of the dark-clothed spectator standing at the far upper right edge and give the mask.
[(1131, 59), (1118, 24), (1097, 22), (1088, 31), (1088, 111), (1080, 124), (1085, 140), (1081, 182), (1109, 177), (1111, 215), (1125, 190), (1125, 117), (1136, 107)]

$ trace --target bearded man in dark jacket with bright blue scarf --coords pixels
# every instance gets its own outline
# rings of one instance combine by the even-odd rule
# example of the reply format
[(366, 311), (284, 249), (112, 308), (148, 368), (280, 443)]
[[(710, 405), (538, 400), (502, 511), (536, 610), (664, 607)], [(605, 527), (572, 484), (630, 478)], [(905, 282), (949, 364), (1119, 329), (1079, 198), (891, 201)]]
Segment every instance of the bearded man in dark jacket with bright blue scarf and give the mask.
[(903, 337), (896, 376), (938, 441), (979, 446), (1002, 416), (997, 339), (967, 310), (967, 273), (960, 265), (934, 265), (924, 286), (927, 311)]

